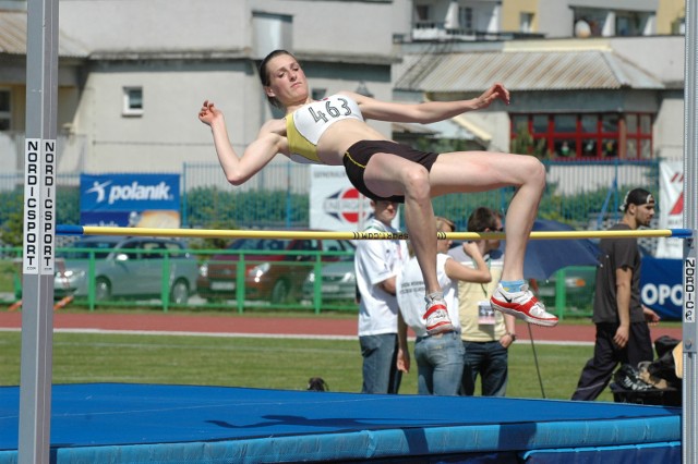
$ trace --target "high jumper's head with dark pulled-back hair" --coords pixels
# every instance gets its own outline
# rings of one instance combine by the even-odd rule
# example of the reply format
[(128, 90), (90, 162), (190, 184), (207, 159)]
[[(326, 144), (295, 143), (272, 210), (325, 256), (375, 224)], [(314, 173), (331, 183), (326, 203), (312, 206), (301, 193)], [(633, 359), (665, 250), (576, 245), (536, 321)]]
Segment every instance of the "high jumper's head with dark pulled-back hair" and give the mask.
[(269, 85), (264, 88), (266, 95), (276, 98), (284, 107), (305, 102), (308, 83), (305, 74), (296, 58), (279, 54), (267, 63)]

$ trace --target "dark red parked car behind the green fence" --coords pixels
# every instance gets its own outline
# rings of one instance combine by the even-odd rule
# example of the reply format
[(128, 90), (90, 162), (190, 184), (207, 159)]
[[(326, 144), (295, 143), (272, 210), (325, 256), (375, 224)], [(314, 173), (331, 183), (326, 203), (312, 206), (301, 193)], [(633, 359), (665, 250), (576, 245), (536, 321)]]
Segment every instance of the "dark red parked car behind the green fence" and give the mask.
[[(228, 246), (228, 252), (214, 255), (202, 265), (196, 281), (198, 294), (206, 300), (233, 300), (237, 289), (239, 252), (261, 252), (244, 256), (245, 300), (287, 303), (297, 298), (301, 285), (312, 270), (313, 254), (287, 254), (287, 252), (352, 252), (349, 241), (314, 239), (239, 239)], [(336, 261), (340, 255), (323, 255), (323, 261)]]

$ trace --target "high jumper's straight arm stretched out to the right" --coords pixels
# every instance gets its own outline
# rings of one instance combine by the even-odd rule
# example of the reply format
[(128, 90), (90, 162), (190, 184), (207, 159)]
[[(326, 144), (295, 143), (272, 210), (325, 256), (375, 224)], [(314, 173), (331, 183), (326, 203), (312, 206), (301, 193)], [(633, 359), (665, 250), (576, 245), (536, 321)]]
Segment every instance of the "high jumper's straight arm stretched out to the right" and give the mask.
[(502, 100), (509, 105), (509, 90), (504, 85), (496, 83), (486, 89), (481, 96), (470, 100), (458, 101), (426, 101), (423, 103), (396, 103), (381, 101), (364, 97), (359, 94), (350, 94), (361, 108), (364, 118), (392, 122), (419, 122), (431, 123), (443, 121), (467, 111), (476, 111), (488, 108), (495, 100)]

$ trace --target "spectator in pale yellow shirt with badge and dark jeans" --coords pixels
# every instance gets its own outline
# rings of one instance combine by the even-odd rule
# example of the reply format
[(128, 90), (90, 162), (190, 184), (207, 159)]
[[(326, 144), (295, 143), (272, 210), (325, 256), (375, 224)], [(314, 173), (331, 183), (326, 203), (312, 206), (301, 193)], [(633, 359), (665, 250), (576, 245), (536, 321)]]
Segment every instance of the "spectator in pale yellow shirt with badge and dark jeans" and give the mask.
[[(480, 207), (468, 218), (468, 232), (503, 231), (502, 215), (490, 208)], [(503, 269), (500, 240), (479, 240), (474, 244), (484, 256), (492, 281), (458, 283), (460, 339), (466, 353), (461, 392), (468, 396), (473, 395), (480, 376), (483, 396), (504, 396), (508, 379), (508, 349), (516, 341), (515, 318), (493, 310), (490, 304)], [(449, 255), (466, 266), (478, 265), (460, 248), (453, 248)]]

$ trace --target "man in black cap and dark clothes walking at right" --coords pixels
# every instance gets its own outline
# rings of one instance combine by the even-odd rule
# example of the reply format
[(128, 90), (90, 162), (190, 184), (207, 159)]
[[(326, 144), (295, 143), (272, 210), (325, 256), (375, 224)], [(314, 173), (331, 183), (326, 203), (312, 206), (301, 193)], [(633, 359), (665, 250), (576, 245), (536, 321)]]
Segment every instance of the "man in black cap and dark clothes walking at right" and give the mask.
[[(621, 210), (623, 219), (611, 230), (648, 227), (654, 216), (654, 197), (643, 188), (635, 188), (625, 196)], [(581, 371), (573, 400), (595, 400), (618, 364), (637, 366), (654, 357), (649, 323), (658, 322), (659, 316), (640, 301), (641, 258), (637, 239), (603, 239), (599, 246), (602, 256), (593, 302), (597, 340), (593, 357)]]

